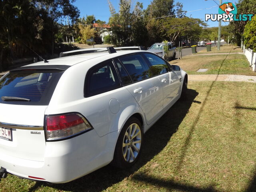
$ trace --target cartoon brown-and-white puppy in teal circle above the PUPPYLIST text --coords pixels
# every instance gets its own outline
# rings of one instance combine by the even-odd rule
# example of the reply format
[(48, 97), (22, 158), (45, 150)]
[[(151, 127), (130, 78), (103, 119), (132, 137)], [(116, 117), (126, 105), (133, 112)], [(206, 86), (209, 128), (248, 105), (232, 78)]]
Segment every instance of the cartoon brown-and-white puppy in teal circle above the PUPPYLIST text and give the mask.
[[(233, 21), (234, 14), (237, 14), (236, 6), (230, 2), (226, 2), (220, 6), (219, 14), (223, 14), (223, 21)], [(225, 16), (226, 14), (226, 16)]]

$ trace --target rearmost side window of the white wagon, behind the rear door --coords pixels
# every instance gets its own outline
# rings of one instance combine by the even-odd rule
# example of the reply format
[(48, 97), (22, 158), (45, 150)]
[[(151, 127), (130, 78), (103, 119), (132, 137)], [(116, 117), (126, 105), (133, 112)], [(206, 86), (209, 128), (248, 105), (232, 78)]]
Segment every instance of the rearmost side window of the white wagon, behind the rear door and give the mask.
[(120, 87), (120, 81), (112, 61), (98, 64), (86, 75), (85, 96), (93, 96)]

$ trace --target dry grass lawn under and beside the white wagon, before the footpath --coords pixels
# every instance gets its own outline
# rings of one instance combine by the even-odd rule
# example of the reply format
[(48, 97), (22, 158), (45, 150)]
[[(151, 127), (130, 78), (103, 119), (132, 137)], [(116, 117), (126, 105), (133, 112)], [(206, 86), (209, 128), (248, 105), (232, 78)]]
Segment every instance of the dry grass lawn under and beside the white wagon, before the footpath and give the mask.
[(145, 134), (138, 163), (106, 166), (66, 184), (8, 175), (0, 192), (250, 192), (256, 187), (256, 84), (189, 82)]

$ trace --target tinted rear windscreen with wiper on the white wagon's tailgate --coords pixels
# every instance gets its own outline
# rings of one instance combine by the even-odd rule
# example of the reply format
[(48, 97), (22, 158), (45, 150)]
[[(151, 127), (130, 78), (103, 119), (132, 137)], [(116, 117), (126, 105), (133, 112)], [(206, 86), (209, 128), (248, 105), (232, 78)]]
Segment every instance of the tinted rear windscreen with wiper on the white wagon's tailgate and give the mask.
[(0, 103), (48, 105), (63, 70), (10, 72), (0, 80)]

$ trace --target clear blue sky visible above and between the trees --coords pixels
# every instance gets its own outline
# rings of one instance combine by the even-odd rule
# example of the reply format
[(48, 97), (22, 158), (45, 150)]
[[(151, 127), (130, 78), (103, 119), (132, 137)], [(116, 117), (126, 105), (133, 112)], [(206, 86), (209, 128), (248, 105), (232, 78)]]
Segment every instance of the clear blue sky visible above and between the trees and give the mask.
[[(132, 0), (135, 5), (136, 2), (143, 3), (143, 8), (146, 9), (150, 4), (150, 0)], [(222, 0), (224, 2), (237, 3), (238, 0)], [(116, 11), (118, 11), (119, 0), (110, 0)], [(186, 16), (192, 18), (199, 18), (205, 21), (205, 14), (218, 14), (219, 0), (175, 0), (183, 4), (183, 10), (187, 11)], [(110, 17), (110, 11), (108, 6), (108, 0), (76, 0), (74, 6), (77, 6), (80, 10), (80, 17), (86, 17), (86, 15), (94, 15), (96, 20), (100, 19), (108, 22)], [(208, 21), (206, 22), (209, 27), (217, 27), (218, 22)], [(228, 25), (228, 22), (222, 22), (222, 25)]]

